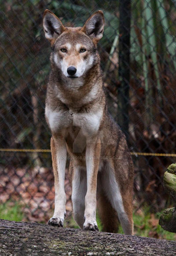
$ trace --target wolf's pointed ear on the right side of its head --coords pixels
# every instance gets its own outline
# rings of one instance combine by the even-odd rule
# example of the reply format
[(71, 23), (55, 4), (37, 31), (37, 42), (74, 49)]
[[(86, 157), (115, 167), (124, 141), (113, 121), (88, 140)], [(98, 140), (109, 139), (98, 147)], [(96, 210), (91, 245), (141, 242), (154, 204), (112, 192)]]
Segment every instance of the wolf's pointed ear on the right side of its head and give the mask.
[(95, 12), (81, 29), (96, 43), (103, 37), (104, 16), (103, 11)]

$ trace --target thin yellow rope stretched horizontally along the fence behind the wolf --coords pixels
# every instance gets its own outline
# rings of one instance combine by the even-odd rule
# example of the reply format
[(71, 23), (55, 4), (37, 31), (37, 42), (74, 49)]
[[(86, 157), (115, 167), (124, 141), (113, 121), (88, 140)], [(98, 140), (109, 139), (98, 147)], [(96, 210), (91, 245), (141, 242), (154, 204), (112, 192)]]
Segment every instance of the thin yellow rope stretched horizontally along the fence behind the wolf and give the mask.
[[(0, 148), (0, 152), (41, 152), (41, 153), (50, 153), (50, 149), (18, 149), (18, 148)], [(171, 156), (176, 157), (176, 154), (167, 154), (167, 153), (150, 153), (150, 152), (130, 152), (131, 155), (137, 156)]]

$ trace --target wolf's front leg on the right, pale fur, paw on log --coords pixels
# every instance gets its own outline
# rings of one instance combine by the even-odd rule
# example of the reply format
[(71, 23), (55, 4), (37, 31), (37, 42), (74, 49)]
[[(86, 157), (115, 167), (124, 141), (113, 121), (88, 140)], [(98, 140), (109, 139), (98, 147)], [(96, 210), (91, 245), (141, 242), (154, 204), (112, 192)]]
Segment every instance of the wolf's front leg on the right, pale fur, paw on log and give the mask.
[(96, 223), (96, 187), (99, 170), (100, 139), (86, 146), (87, 193), (85, 196), (84, 229), (98, 231)]

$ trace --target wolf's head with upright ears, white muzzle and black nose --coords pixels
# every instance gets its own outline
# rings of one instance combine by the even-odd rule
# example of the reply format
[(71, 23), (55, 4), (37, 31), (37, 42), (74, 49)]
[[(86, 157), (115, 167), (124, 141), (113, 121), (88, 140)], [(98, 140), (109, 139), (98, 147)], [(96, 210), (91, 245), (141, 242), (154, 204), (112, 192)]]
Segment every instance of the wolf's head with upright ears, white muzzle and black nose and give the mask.
[(96, 45), (103, 36), (103, 12), (97, 11), (83, 27), (64, 27), (49, 10), (44, 11), (45, 37), (53, 48), (52, 61), (67, 78), (79, 78), (97, 63)]

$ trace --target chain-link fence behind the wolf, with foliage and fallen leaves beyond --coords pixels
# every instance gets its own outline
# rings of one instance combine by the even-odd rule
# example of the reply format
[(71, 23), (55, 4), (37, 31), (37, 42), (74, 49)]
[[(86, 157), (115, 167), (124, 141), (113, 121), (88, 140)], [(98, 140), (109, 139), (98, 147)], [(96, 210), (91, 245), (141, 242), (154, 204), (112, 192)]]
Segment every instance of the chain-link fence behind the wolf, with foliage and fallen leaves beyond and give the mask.
[[(134, 206), (159, 211), (168, 197), (163, 173), (176, 162), (174, 0), (0, 1), (0, 202), (20, 200), (30, 220), (48, 220), (54, 208), (51, 154), (29, 151), (50, 148), (44, 119), (51, 51), (42, 27), (45, 9), (66, 26), (83, 26), (93, 12), (103, 11), (98, 46), (103, 81), (109, 110), (133, 153)], [(67, 176), (66, 193), (70, 212)]]

